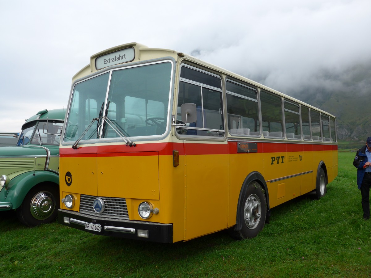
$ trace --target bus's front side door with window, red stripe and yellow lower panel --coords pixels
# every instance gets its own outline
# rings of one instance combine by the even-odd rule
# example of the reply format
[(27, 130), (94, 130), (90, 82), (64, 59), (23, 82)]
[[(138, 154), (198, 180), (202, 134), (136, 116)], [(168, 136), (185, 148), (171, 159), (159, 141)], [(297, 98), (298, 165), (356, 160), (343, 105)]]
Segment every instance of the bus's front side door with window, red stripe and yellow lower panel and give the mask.
[[(184, 140), (187, 240), (227, 227), (228, 147), (220, 76), (183, 64), (178, 88), (177, 122), (181, 123), (176, 132)], [(192, 120), (185, 120), (186, 114), (182, 117), (182, 105), (193, 106)]]

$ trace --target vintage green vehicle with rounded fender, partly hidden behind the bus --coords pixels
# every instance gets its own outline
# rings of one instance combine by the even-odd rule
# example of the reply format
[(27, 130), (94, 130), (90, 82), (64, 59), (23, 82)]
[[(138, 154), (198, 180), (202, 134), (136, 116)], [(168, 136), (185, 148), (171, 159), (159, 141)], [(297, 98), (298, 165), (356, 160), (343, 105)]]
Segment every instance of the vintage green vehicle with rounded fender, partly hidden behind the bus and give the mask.
[(27, 226), (50, 223), (57, 216), (65, 112), (38, 112), (22, 126), (16, 146), (0, 148), (0, 211), (15, 209)]

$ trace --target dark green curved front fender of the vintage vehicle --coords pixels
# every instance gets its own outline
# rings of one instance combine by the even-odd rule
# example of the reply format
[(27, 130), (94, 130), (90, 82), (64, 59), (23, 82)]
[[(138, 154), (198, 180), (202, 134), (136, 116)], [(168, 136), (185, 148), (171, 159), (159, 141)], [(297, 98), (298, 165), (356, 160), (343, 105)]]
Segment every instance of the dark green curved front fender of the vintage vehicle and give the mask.
[(57, 191), (59, 191), (59, 175), (57, 173), (51, 171), (30, 171), (11, 179), (8, 185), (8, 192), (5, 192), (3, 188), (1, 193), (6, 195), (4, 201), (12, 203), (12, 209), (16, 209), (22, 204), (30, 189), (40, 183), (49, 183), (50, 186), (57, 188)]

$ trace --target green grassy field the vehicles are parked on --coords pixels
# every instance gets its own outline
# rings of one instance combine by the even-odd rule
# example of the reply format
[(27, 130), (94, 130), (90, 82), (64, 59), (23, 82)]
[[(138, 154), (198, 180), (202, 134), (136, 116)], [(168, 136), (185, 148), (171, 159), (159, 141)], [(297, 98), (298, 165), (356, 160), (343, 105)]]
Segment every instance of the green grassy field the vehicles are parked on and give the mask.
[(322, 199), (273, 208), (270, 224), (244, 241), (225, 231), (175, 244), (129, 241), (57, 223), (25, 228), (2, 212), (0, 277), (370, 277), (371, 221), (362, 218), (354, 155), (339, 152), (339, 175)]

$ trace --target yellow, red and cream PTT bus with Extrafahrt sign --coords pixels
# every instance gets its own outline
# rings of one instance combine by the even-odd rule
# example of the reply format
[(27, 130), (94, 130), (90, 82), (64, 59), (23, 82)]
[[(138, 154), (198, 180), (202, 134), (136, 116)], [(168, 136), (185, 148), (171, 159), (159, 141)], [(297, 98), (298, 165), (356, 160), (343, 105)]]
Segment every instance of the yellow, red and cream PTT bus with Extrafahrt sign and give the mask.
[(271, 208), (325, 195), (337, 149), (329, 113), (182, 52), (123, 44), (73, 77), (58, 221), (154, 242), (251, 238)]

